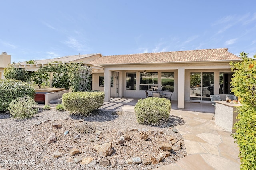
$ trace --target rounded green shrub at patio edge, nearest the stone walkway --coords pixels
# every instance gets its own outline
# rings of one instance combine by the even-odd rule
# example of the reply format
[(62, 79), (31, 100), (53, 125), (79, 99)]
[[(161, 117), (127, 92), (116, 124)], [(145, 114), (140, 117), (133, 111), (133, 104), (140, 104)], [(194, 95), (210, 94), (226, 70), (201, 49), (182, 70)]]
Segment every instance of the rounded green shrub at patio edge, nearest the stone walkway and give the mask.
[(134, 110), (138, 123), (158, 124), (169, 118), (171, 102), (165, 98), (139, 99)]

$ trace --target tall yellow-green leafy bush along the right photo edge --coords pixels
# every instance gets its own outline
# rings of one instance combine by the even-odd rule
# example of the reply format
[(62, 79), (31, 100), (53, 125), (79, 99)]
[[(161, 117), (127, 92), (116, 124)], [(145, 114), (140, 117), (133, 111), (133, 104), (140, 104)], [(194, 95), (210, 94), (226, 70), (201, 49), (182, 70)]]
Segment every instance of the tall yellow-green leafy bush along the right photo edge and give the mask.
[(231, 92), (240, 99), (238, 107), (238, 122), (233, 134), (236, 143), (240, 148), (240, 169), (256, 169), (256, 55), (253, 58), (247, 54), (240, 53), (241, 62), (231, 62), (234, 71), (231, 81)]

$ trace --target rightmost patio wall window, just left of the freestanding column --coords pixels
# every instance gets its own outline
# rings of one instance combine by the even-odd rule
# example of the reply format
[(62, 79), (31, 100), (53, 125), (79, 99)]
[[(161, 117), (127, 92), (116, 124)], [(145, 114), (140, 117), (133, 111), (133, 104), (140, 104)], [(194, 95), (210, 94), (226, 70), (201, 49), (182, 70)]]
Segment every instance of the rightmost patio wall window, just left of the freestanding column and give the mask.
[(161, 73), (161, 86), (163, 91), (174, 91), (174, 72)]

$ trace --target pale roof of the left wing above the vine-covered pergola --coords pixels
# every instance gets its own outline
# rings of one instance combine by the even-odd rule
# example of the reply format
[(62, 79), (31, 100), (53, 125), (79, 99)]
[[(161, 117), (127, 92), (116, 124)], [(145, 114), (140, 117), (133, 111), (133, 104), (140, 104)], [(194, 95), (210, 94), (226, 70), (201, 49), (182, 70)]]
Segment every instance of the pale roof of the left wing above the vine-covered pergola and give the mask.
[[(87, 57), (92, 57), (94, 55), (101, 55), (100, 53), (97, 54), (84, 54), (84, 55), (68, 55), (68, 56), (64, 56), (64, 57), (58, 57), (58, 58), (54, 58), (54, 59), (45, 59), (45, 60), (35, 60), (36, 64), (47, 64), (47, 63), (51, 63), (54, 61), (61, 61), (62, 63), (68, 63), (68, 62), (73, 62), (73, 61), (77, 61), (80, 59), (84, 59)], [(24, 65), (26, 64), (26, 61), (24, 62), (20, 62), (20, 65)]]

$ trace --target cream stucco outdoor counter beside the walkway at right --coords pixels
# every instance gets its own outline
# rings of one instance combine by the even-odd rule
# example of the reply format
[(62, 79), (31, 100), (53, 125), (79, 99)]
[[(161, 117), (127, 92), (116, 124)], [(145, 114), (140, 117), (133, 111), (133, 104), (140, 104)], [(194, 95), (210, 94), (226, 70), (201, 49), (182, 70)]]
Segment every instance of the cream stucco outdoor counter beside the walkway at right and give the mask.
[(215, 102), (215, 124), (228, 132), (235, 132), (235, 129), (233, 129), (234, 123), (238, 121), (236, 119), (238, 115), (236, 107), (241, 106), (241, 104), (227, 103), (226, 101)]

